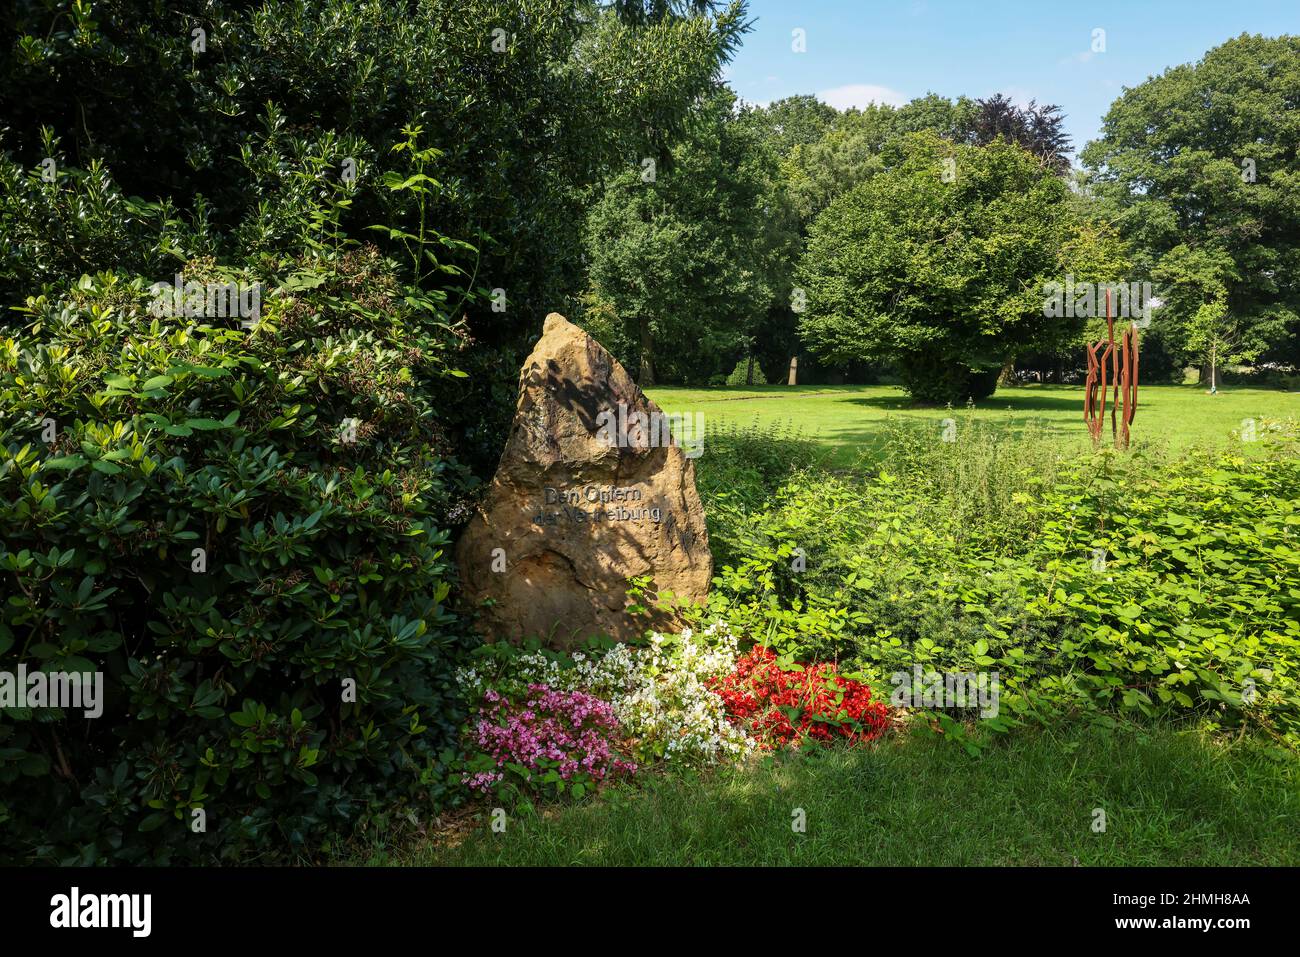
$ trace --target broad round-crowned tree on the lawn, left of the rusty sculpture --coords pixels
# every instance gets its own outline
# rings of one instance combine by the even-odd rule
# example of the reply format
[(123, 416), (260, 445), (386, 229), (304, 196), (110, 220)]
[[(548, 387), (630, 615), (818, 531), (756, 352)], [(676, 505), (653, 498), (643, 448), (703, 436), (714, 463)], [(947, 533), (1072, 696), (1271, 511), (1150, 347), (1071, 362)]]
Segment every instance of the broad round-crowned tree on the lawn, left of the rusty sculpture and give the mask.
[(918, 133), (883, 160), (818, 216), (800, 264), (800, 334), (826, 361), (893, 360), (920, 402), (987, 398), (1017, 355), (1083, 333), (1083, 316), (1045, 308), (1048, 283), (1109, 281), (1127, 265), (1018, 146)]

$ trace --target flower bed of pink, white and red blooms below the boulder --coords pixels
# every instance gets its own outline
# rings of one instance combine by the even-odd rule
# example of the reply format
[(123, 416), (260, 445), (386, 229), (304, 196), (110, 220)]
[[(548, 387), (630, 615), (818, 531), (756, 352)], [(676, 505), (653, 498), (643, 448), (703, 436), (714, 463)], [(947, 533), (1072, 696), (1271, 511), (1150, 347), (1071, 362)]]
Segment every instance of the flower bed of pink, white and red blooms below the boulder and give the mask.
[(833, 664), (783, 671), (762, 645), (745, 655), (722, 622), (654, 633), (644, 646), (562, 654), (488, 645), (458, 680), (478, 713), (464, 781), (581, 796), (611, 774), (667, 762), (705, 767), (758, 749), (870, 741), (887, 709)]

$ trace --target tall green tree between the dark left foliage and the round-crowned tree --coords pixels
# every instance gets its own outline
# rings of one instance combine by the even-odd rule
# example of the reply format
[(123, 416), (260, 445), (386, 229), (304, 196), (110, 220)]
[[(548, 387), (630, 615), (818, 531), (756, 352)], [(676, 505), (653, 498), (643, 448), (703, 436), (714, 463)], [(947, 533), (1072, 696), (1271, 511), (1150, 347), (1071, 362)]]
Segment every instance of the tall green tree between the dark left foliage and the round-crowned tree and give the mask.
[(671, 168), (627, 170), (590, 213), (589, 306), (642, 386), (734, 361), (783, 291), (794, 233), (783, 226), (776, 163), (733, 105), (719, 90)]

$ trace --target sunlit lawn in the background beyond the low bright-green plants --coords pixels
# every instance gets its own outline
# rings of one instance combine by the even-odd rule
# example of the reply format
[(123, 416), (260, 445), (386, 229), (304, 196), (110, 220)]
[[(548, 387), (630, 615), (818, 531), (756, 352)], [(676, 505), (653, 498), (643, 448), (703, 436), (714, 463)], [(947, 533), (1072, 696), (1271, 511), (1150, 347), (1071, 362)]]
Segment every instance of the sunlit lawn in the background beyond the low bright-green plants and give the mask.
[[(940, 421), (953, 415), (932, 406), (913, 407), (902, 389), (887, 385), (660, 386), (647, 394), (664, 412), (702, 412), (707, 428), (745, 426), (755, 420), (763, 425), (788, 424), (793, 432), (833, 449), (838, 464), (849, 464), (858, 449), (872, 449), (887, 419), (931, 423), (937, 432)], [(962, 413), (958, 412), (958, 417)], [(1088, 445), (1083, 386), (1000, 387), (992, 398), (979, 403), (975, 415), (1010, 428), (1036, 423), (1041, 430), (1065, 442)], [(1219, 443), (1231, 439), (1230, 433), (1242, 426), (1243, 419), (1296, 416), (1300, 416), (1300, 393), (1226, 389), (1218, 395), (1208, 395), (1193, 385), (1143, 386), (1132, 425), (1134, 447)], [(1108, 436), (1109, 432), (1108, 421)]]

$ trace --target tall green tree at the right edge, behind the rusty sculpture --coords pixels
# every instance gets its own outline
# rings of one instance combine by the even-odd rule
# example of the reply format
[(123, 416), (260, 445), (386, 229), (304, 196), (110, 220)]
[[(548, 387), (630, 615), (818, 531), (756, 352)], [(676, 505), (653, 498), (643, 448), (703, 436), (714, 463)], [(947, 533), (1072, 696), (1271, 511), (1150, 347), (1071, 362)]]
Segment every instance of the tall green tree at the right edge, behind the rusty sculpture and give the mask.
[(1153, 333), (1184, 361), (1200, 358), (1187, 325), (1214, 300), (1206, 289), (1216, 283), (1249, 351), (1266, 358), (1294, 346), (1300, 36), (1243, 34), (1126, 90), (1083, 161), (1166, 302)]

